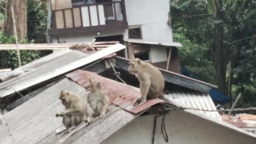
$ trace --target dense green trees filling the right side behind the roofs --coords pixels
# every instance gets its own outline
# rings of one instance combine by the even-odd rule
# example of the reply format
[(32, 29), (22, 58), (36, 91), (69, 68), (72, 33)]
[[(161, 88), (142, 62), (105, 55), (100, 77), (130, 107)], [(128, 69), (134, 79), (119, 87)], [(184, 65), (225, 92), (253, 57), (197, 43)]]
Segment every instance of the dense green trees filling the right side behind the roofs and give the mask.
[[(256, 0), (172, 0), (170, 10), (174, 41), (183, 44), (181, 64), (200, 80), (218, 86), (222, 65), (223, 93), (235, 99), (242, 92), (237, 106), (255, 107)], [(221, 43), (218, 57), (217, 43)]]

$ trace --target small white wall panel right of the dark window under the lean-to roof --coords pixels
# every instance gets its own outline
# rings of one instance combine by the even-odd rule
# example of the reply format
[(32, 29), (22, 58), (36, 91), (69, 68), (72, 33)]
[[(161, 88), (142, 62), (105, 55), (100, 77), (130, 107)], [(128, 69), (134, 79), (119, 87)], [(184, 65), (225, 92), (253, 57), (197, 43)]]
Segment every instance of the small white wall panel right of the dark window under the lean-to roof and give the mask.
[(150, 45), (151, 62), (167, 61), (166, 48), (164, 46)]

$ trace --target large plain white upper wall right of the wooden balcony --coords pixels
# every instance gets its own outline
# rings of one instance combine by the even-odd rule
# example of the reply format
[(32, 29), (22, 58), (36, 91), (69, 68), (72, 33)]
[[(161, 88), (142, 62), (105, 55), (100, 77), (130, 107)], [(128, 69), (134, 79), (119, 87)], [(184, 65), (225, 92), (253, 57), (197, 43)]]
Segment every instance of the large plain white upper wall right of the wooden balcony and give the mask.
[(125, 0), (129, 26), (142, 25), (143, 40), (172, 42), (169, 0)]

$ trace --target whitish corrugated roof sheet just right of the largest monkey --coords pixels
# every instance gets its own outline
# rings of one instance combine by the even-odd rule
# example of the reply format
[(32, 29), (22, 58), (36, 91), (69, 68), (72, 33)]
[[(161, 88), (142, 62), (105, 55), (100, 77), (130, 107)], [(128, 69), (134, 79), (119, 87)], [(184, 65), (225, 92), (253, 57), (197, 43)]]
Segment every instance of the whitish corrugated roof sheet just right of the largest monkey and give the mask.
[[(170, 103), (174, 106), (181, 106), (183, 108), (195, 108), (195, 109), (202, 109), (202, 110), (216, 110), (216, 106), (214, 105), (211, 97), (209, 94), (200, 94), (200, 93), (183, 93), (177, 92), (172, 94), (165, 94), (164, 95)], [(189, 110), (186, 109), (185, 111), (190, 113), (204, 113), (208, 116), (212, 116), (218, 120), (221, 120), (220, 114), (218, 112), (206, 112), (202, 110)]]

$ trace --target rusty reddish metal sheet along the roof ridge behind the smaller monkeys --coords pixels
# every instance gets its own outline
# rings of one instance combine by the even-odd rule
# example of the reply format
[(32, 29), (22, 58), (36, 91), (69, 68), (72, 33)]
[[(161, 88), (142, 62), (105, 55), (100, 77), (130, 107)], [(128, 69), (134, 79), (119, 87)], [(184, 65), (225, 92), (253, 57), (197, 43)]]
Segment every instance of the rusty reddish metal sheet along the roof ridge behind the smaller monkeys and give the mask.
[(160, 99), (152, 99), (147, 100), (142, 105), (133, 106), (134, 102), (138, 97), (141, 96), (140, 91), (134, 89), (133, 87), (122, 84), (120, 82), (116, 82), (114, 80), (110, 80), (108, 78), (104, 78), (94, 72), (89, 72), (85, 70), (76, 70), (66, 75), (68, 78), (71, 78), (81, 86), (85, 87), (89, 83), (89, 79), (98, 80), (102, 86), (106, 89), (110, 102), (112, 104), (118, 105), (121, 108), (137, 114), (150, 106), (158, 103), (166, 103), (164, 100)]

